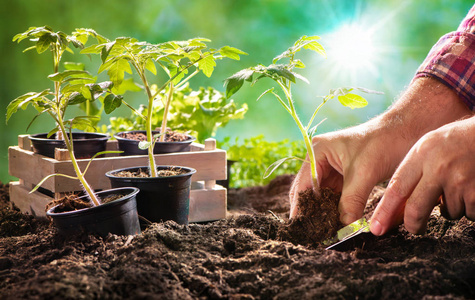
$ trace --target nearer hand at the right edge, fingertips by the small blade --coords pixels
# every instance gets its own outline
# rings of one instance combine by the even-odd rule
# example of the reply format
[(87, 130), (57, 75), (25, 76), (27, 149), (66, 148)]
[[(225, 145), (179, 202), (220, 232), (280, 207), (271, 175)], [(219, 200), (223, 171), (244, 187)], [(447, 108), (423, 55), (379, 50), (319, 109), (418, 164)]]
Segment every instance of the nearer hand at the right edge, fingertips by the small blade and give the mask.
[(423, 233), (439, 202), (449, 219), (475, 220), (475, 117), (424, 135), (392, 177), (370, 222), (382, 235), (404, 220), (411, 233)]

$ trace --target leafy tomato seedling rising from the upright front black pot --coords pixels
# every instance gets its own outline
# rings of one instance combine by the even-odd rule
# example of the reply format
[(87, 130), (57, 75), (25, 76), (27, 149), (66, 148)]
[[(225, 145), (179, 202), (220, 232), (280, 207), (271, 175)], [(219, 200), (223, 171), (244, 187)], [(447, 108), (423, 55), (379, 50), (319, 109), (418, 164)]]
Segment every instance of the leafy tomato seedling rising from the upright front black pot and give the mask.
[[(101, 55), (102, 65), (99, 68), (99, 72), (107, 70), (111, 81), (116, 87), (120, 87), (126, 82), (124, 80), (125, 73), (132, 74), (132, 68), (135, 69), (140, 77), (147, 95), (147, 113), (141, 114), (127, 103), (126, 105), (145, 121), (147, 141), (141, 142), (139, 147), (141, 149), (148, 149), (151, 177), (157, 177), (153, 147), (158, 139), (160, 141), (165, 139), (168, 113), (173, 102), (175, 90), (200, 72), (210, 77), (216, 66), (216, 60), (224, 57), (239, 60), (239, 55), (246, 54), (239, 49), (229, 46), (219, 49), (207, 49), (207, 42), (210, 42), (210, 40), (194, 38), (186, 41), (149, 44), (134, 38), (121, 37), (114, 41), (90, 46), (81, 51), (82, 53)], [(157, 76), (157, 66), (166, 74), (167, 79), (158, 84), (156, 88), (153, 88), (147, 77), (147, 71)], [(162, 101), (164, 109), (160, 134), (153, 136), (152, 113), (154, 112), (154, 102), (157, 100)], [(107, 102), (104, 105), (107, 108), (107, 106), (118, 106), (120, 103), (120, 101)]]

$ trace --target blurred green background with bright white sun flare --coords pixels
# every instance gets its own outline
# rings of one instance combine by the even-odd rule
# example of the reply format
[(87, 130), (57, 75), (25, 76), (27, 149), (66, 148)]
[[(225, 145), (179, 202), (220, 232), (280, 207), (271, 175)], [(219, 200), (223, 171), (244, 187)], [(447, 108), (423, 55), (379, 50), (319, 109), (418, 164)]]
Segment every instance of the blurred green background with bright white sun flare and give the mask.
[[(272, 58), (302, 35), (319, 35), (327, 49), (325, 60), (302, 53), (310, 85), (295, 88), (302, 118), (330, 88), (363, 86), (382, 91), (384, 96), (368, 96), (369, 105), (359, 110), (330, 103), (319, 119), (327, 132), (364, 122), (384, 111), (409, 84), (418, 65), (438, 38), (457, 28), (473, 1), (453, 0), (5, 0), (0, 12), (0, 181), (8, 175), (8, 147), (17, 144), (35, 111), (29, 108), (14, 115), (5, 125), (8, 103), (29, 91), (50, 87), (51, 57), (45, 52), (22, 53), (27, 43), (13, 43), (12, 37), (30, 26), (50, 25), (71, 33), (75, 28), (93, 28), (109, 39), (132, 36), (158, 43), (193, 37), (212, 40), (211, 46), (230, 45), (247, 53), (241, 61), (218, 62), (211, 79), (193, 79), (191, 86), (213, 86), (224, 91), (223, 80), (234, 72), (257, 63), (270, 64)], [(64, 61), (72, 60), (65, 55)], [(78, 55), (74, 56), (77, 60)], [(80, 56), (88, 70), (96, 72), (99, 62)], [(255, 102), (263, 91), (245, 86), (233, 98), (248, 103), (243, 120), (219, 129), (217, 139), (264, 134), (269, 141), (299, 139), (290, 117), (269, 97)], [(142, 103), (141, 93), (126, 94), (134, 106)], [(115, 115), (129, 116), (119, 109)], [(105, 116), (102, 124), (107, 124)], [(317, 120), (318, 122), (319, 120)], [(52, 121), (40, 118), (28, 133), (49, 131)]]

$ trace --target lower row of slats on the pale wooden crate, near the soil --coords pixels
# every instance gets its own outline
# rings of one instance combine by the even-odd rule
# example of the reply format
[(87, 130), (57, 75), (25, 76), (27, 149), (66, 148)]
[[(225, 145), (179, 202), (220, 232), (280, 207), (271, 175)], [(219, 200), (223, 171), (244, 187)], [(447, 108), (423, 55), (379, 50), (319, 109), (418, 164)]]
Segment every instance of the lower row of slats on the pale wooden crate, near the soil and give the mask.
[[(38, 191), (29, 193), (30, 189), (19, 182), (10, 182), (10, 198), (23, 212), (36, 217), (46, 216), (46, 205), (53, 198)], [(226, 217), (226, 189), (216, 185), (212, 190), (192, 189), (190, 192), (189, 222), (205, 222)]]

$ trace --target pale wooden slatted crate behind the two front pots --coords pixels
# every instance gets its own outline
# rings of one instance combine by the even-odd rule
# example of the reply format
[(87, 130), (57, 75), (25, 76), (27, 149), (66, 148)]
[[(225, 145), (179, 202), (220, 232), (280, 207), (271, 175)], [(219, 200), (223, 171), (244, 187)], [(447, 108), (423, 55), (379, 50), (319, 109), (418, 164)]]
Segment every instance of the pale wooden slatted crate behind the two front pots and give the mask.
[[(117, 150), (117, 141), (108, 141), (107, 150)], [(190, 152), (155, 155), (157, 165), (180, 165), (196, 169), (192, 177), (190, 195), (190, 222), (219, 220), (226, 217), (226, 189), (216, 184), (216, 180), (226, 179), (226, 151), (216, 148), (216, 141), (208, 139), (205, 144), (193, 143)], [(64, 149), (56, 149), (55, 158), (35, 154), (28, 135), (18, 137), (18, 146), (8, 149), (8, 170), (19, 181), (10, 183), (10, 199), (22, 212), (44, 217), (46, 205), (64, 193), (80, 191), (79, 181), (62, 176), (54, 176), (45, 181), (43, 192), (29, 193), (45, 176), (62, 173), (75, 176), (69, 154)], [(78, 160), (82, 170), (89, 159)], [(146, 166), (147, 156), (118, 156), (96, 158), (89, 166), (86, 179), (95, 190), (110, 188), (105, 173), (110, 170)]]

